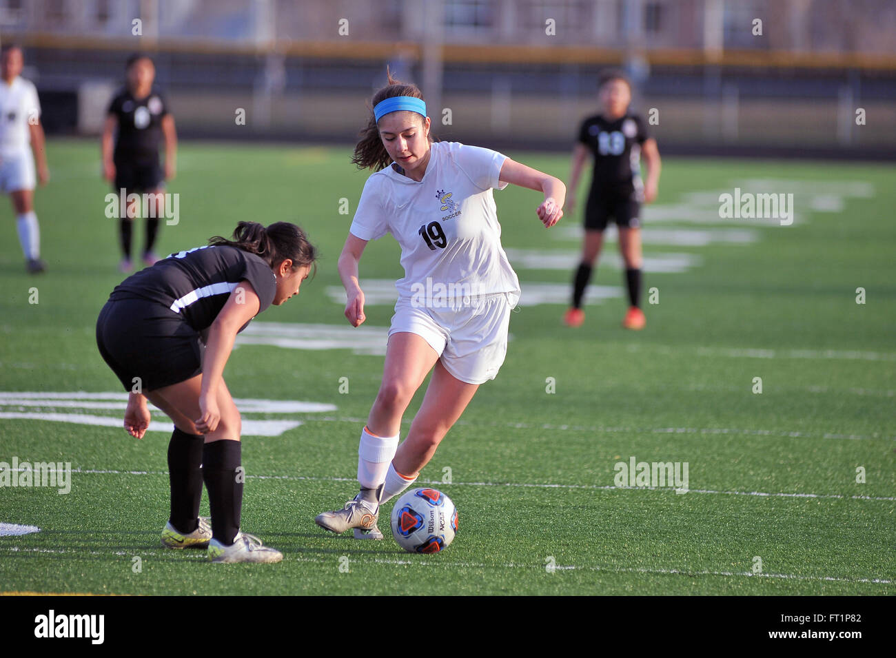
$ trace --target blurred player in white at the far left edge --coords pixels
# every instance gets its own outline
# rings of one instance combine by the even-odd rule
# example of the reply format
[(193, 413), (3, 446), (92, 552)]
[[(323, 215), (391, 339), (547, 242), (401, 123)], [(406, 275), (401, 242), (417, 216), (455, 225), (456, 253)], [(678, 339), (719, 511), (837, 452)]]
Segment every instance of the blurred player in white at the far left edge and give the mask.
[[(22, 48), (4, 46), (3, 82), (0, 83), (0, 190), (10, 195), (15, 209), (19, 242), (28, 271), (46, 269), (40, 260), (40, 227), (34, 212), (34, 160), (38, 161), (38, 179), (47, 184), (47, 151), (40, 125), (40, 102), (34, 85), (22, 77)], [(31, 157), (31, 151), (34, 157)]]

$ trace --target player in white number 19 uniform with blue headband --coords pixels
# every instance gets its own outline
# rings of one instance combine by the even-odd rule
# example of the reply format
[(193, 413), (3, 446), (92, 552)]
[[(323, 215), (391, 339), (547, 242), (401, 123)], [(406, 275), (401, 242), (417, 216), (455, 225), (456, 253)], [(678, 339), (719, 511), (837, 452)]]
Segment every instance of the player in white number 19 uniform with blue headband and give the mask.
[[(389, 76), (375, 93), (352, 161), (378, 171), (364, 186), (339, 259), (354, 326), (365, 320), (358, 261), (369, 240), (391, 233), (405, 276), (383, 367), (383, 382), (358, 446), (361, 491), (319, 526), (381, 539), (379, 505), (404, 491), (432, 458), (479, 385), (495, 379), (507, 351), (520, 284), (501, 246), (492, 189), (508, 183), (544, 193), (538, 218), (554, 226), (566, 189), (551, 175), (493, 150), (432, 143), (420, 90)], [(426, 397), (399, 443), (401, 415), (426, 375)]]

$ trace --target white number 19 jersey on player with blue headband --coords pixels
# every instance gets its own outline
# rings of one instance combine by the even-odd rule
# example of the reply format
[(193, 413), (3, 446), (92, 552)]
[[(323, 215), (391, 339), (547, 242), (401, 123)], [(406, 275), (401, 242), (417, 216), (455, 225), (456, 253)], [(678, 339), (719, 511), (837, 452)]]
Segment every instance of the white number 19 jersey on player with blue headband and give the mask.
[(391, 233), (401, 244), (401, 297), (458, 299), (520, 294), (520, 281), (501, 246), (492, 188), (506, 156), (494, 150), (438, 141), (423, 180), (392, 165), (371, 175), (349, 229), (362, 240)]

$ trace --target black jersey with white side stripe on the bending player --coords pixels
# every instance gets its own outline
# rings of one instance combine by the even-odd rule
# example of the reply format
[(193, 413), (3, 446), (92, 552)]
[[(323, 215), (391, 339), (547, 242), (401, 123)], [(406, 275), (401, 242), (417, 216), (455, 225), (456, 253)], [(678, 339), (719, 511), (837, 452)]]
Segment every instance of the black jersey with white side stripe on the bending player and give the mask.
[[(151, 268), (125, 278), (109, 299), (137, 297), (163, 304), (179, 313), (190, 327), (202, 331), (211, 326), (230, 293), (244, 279), (252, 284), (261, 302), (258, 312), (263, 312), (277, 292), (271, 266), (260, 256), (237, 247), (196, 247), (172, 253)], [(240, 331), (243, 329), (245, 325)]]

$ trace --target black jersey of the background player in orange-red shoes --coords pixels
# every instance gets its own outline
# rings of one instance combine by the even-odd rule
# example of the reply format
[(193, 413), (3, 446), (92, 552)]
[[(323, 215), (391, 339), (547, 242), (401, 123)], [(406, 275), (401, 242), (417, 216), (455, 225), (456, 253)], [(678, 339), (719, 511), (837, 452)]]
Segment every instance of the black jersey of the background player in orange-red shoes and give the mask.
[(640, 185), (641, 145), (650, 139), (647, 124), (638, 115), (615, 121), (602, 115), (582, 122), (579, 141), (594, 154), (592, 188), (628, 188)]

